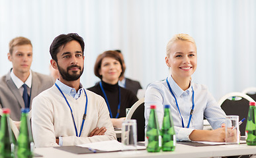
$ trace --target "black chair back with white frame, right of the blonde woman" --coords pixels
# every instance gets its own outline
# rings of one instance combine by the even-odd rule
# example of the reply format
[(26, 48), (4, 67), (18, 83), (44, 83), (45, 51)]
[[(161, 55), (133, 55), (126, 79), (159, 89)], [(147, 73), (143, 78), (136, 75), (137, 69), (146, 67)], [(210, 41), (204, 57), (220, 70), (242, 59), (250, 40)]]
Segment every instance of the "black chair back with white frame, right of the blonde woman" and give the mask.
[[(229, 99), (230, 97), (239, 97), (239, 98), (230, 100)], [(218, 101), (218, 105), (222, 107), (226, 115), (238, 115), (240, 120), (245, 118), (245, 121), (243, 121), (243, 124), (239, 126), (241, 136), (245, 135), (247, 115), (249, 111), (249, 101), (254, 101), (254, 100), (248, 95), (241, 92), (228, 93), (224, 95), (220, 99), (220, 101)]]

